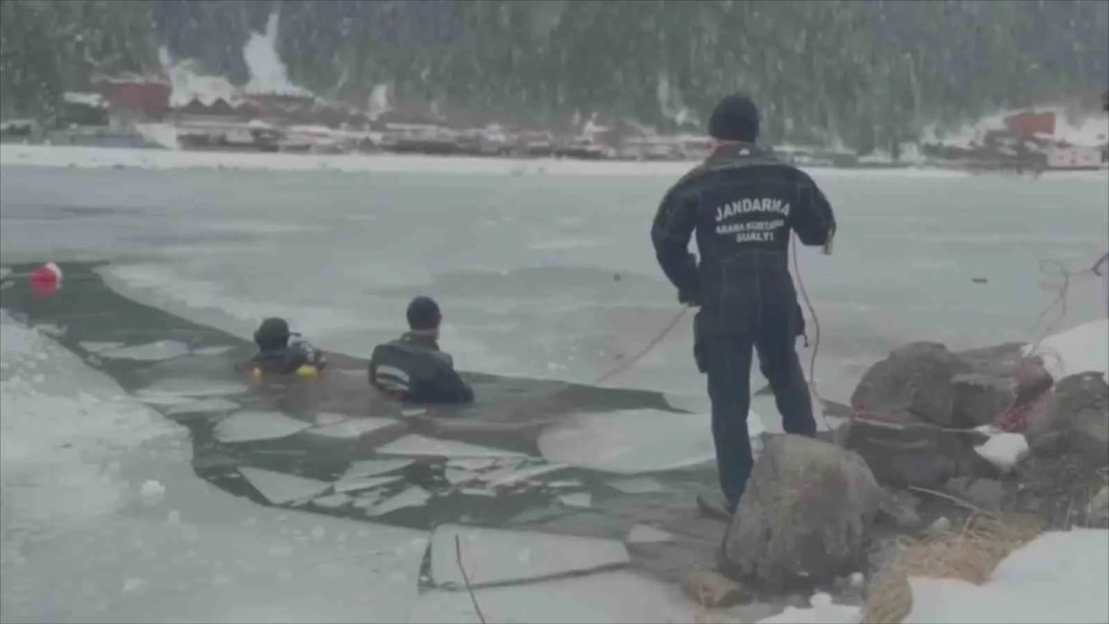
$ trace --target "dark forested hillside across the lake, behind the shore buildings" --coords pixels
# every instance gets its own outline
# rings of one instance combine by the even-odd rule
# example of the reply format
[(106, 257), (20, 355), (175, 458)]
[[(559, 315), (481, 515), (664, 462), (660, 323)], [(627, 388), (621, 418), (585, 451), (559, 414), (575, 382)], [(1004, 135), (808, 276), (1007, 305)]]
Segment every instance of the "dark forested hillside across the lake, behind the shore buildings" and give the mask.
[(700, 128), (744, 89), (771, 140), (861, 153), (1062, 94), (1096, 107), (1109, 77), (1103, 1), (3, 0), (0, 112), (49, 115), (82, 61), (157, 68), (159, 46), (243, 84), (274, 10), (291, 80), (328, 97)]

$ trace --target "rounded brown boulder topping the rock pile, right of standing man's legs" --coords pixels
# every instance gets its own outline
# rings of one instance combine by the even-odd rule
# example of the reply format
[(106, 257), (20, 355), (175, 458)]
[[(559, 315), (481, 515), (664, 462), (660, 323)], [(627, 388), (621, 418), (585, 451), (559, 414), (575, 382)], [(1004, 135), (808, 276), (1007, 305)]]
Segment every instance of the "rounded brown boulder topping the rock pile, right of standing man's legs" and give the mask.
[(871, 366), (851, 395), (856, 413), (867, 419), (952, 426), (955, 384), (969, 365), (938, 342), (913, 342)]

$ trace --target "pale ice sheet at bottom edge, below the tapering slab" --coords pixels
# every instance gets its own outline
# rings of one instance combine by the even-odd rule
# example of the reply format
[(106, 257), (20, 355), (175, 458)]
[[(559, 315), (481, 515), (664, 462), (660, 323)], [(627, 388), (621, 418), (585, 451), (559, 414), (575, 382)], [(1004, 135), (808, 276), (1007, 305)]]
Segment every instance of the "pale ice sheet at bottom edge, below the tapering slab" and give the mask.
[[(470, 564), (466, 560), (464, 563), (470, 574)], [(475, 591), (474, 597), (487, 622), (661, 624), (693, 622), (698, 613), (696, 605), (672, 585), (624, 570), (486, 587)], [(481, 622), (467, 592), (442, 590), (420, 593), (408, 621), (428, 624)]]

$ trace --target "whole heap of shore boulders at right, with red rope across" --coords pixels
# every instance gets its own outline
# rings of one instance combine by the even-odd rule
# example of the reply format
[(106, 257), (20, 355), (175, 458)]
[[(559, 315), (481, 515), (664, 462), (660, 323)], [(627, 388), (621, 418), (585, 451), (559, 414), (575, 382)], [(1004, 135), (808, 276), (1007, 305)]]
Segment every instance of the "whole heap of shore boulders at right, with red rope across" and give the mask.
[(708, 621), (759, 621), (808, 606), (813, 592), (859, 606), (904, 540), (965, 530), (973, 516), (1109, 527), (1100, 371), (1055, 379), (1019, 343), (914, 342), (874, 364), (849, 406), (825, 410), (849, 419), (823, 440), (764, 437), (721, 565), (685, 578)]

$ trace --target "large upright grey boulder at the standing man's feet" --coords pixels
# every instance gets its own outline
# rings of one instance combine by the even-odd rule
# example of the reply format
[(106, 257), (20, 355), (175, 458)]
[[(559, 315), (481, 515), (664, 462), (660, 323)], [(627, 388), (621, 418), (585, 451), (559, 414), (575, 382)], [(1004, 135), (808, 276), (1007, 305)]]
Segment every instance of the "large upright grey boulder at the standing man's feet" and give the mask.
[(774, 436), (724, 535), (723, 563), (770, 591), (862, 570), (885, 496), (857, 454), (810, 437)]

